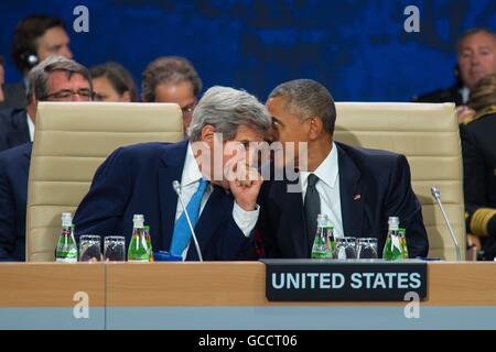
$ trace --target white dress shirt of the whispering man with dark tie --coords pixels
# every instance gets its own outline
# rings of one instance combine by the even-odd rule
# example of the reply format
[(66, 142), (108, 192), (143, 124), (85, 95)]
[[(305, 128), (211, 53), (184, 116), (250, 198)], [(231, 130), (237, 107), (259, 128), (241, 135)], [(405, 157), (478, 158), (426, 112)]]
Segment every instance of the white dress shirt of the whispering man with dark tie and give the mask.
[(315, 188), (321, 198), (321, 213), (326, 215), (333, 224), (334, 237), (344, 237), (339, 197), (339, 164), (337, 161), (337, 148), (334, 142), (331, 153), (327, 154), (321, 165), (319, 165), (313, 173), (300, 172), (300, 186), (302, 189), (301, 195), (303, 197), (303, 204), (305, 201), (306, 186), (310, 174), (315, 174), (319, 177)]

